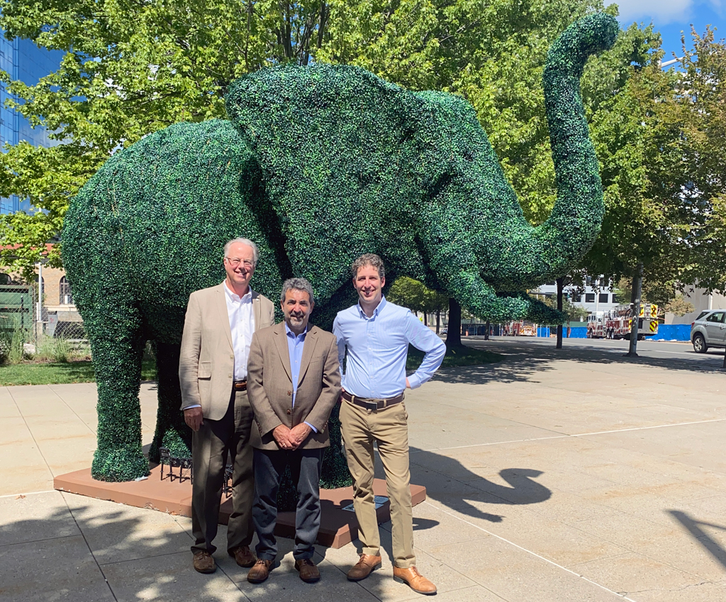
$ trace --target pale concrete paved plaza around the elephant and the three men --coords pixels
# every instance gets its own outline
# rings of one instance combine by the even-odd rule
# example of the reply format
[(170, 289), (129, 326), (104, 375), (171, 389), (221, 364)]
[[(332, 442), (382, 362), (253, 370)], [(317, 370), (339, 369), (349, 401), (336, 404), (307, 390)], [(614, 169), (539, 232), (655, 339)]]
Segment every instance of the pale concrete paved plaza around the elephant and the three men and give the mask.
[[(668, 358), (476, 342), (502, 363), (441, 370), (407, 394), (417, 566), (455, 602), (726, 600), (726, 372)], [(714, 359), (722, 356), (714, 355)], [(718, 363), (718, 362), (717, 362)], [(155, 384), (142, 385), (144, 443)], [(89, 466), (94, 384), (0, 389), (0, 600), (423, 598), (384, 568), (351, 583), (354, 542), (317, 548), (322, 580), (280, 565), (250, 585), (225, 552), (192, 569), (191, 521), (52, 490)], [(380, 474), (380, 476), (383, 476)]]

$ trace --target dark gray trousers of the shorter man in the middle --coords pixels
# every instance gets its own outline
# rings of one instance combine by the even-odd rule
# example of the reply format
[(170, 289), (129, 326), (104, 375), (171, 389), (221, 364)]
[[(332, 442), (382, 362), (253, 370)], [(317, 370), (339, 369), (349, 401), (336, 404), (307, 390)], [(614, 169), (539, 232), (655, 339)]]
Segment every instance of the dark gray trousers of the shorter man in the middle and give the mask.
[(312, 558), (313, 544), (320, 528), (320, 471), (325, 448), (312, 450), (255, 450), (255, 503), (252, 519), (257, 531), (257, 558), (274, 560), (277, 556), (277, 540), (274, 526), (277, 523), (277, 490), (285, 467), (290, 466), (293, 483), (298, 490), (298, 507), (295, 511), (295, 549), (293, 558)]

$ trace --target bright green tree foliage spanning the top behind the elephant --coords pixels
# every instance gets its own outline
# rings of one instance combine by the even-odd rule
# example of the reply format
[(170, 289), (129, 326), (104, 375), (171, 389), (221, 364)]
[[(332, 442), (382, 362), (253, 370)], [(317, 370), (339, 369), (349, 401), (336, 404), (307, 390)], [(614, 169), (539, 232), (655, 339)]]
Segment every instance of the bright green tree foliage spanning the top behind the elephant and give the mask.
[[(65, 53), (35, 86), (10, 82), (17, 110), (63, 144), (0, 154), (0, 194), (36, 213), (0, 218), (4, 265), (29, 276), (60, 233), (68, 202), (116, 149), (179, 121), (224, 117), (234, 78), (265, 65), (359, 65), (412, 90), (460, 94), (475, 107), (525, 215), (547, 218), (555, 174), (544, 118), (547, 48), (602, 0), (4, 0), (0, 27)], [(722, 132), (725, 50), (693, 33), (680, 71), (660, 38), (632, 25), (593, 57), (582, 94), (605, 189), (602, 234), (580, 266), (655, 281), (726, 286)], [(51, 265), (60, 265), (58, 247)]]

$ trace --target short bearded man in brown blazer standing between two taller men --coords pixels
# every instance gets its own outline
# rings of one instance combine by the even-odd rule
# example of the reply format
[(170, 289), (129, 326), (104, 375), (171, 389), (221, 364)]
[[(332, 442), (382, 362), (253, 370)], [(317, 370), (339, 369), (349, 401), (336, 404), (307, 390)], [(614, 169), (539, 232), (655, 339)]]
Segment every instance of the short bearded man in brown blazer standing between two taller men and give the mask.
[(333, 334), (308, 327), (313, 289), (303, 278), (282, 285), (285, 322), (255, 333), (250, 345), (249, 398), (258, 432), (253, 432), (257, 562), (248, 581), (267, 579), (277, 556), (274, 527), (277, 490), (290, 466), (298, 490), (295, 513), (295, 569), (305, 582), (320, 573), (312, 561), (320, 527), (320, 473), (330, 446), (327, 420), (340, 396), (338, 343)]

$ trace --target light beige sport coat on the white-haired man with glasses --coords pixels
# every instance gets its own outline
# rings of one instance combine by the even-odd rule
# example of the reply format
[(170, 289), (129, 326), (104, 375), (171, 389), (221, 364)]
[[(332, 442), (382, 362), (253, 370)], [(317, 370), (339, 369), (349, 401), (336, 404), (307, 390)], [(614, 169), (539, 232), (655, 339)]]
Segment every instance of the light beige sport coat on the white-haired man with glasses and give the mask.
[[(224, 283), (189, 296), (181, 337), (181, 409), (201, 405), (205, 418), (221, 420), (229, 408), (234, 379), (234, 348)], [(274, 324), (274, 305), (252, 292), (255, 330)]]

